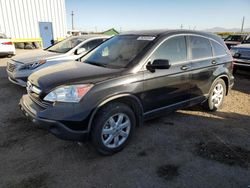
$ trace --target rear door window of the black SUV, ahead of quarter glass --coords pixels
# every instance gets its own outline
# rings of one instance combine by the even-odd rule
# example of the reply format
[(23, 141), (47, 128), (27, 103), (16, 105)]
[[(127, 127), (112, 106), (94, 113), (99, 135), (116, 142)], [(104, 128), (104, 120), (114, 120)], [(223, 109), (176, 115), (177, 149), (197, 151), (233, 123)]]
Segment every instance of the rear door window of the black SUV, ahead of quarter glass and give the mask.
[(212, 47), (208, 39), (190, 36), (190, 50), (192, 59), (212, 57)]

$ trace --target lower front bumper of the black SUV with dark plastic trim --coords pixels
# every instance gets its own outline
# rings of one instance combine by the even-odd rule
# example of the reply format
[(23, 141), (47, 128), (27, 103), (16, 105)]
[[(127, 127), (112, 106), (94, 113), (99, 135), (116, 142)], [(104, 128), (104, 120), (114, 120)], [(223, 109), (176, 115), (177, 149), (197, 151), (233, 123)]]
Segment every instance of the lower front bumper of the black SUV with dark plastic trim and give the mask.
[(23, 114), (35, 125), (46, 129), (58, 138), (71, 141), (84, 141), (88, 138), (88, 131), (72, 130), (63, 123), (38, 117), (39, 111), (43, 110), (36, 105), (28, 95), (24, 95), (19, 103)]

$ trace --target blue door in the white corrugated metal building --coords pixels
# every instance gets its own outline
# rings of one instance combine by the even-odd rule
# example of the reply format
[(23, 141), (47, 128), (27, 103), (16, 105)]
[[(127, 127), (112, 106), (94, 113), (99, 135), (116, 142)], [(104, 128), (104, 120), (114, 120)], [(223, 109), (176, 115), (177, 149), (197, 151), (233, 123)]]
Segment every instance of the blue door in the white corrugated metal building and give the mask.
[(39, 22), (39, 30), (43, 42), (43, 48), (48, 48), (52, 45), (53, 41), (52, 22)]

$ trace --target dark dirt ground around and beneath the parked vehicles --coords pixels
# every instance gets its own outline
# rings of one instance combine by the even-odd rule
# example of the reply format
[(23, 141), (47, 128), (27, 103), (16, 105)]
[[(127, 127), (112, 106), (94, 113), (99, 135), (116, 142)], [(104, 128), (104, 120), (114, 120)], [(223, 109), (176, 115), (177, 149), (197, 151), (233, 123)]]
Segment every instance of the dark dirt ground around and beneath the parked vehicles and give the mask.
[[(20, 52), (18, 52), (20, 53)], [(32, 53), (32, 52), (30, 52)], [(250, 72), (239, 71), (223, 108), (178, 110), (144, 123), (120, 153), (59, 140), (26, 120), (24, 88), (0, 58), (0, 187), (250, 187)]]

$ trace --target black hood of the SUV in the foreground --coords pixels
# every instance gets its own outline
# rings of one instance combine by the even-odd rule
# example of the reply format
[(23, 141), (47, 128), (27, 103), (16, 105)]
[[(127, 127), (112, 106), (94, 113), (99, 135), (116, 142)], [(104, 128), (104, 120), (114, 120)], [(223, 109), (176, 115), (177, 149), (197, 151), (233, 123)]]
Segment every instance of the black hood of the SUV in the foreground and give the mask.
[(111, 69), (78, 61), (69, 61), (36, 71), (29, 76), (28, 80), (43, 92), (48, 93), (60, 85), (95, 84), (116, 77), (121, 71), (122, 69)]

